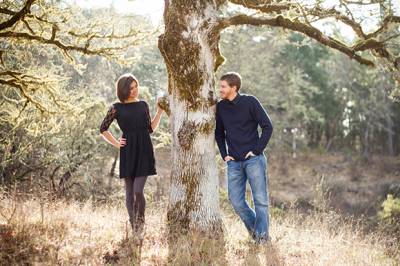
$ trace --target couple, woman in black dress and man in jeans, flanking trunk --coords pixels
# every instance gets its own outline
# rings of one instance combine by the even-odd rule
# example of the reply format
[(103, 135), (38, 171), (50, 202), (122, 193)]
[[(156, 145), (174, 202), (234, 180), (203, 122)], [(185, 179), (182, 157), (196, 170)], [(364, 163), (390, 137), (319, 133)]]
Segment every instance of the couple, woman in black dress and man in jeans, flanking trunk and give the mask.
[[(132, 74), (125, 74), (118, 79), (116, 90), (120, 103), (111, 105), (100, 126), (105, 139), (120, 148), (120, 177), (125, 179), (126, 206), (134, 229), (141, 228), (144, 223), (143, 187), (146, 177), (156, 174), (149, 133), (158, 126), (162, 114), (157, 102), (157, 113), (150, 119), (147, 103), (137, 98), (138, 85), (138, 80)], [(240, 87), (241, 77), (236, 72), (228, 72), (220, 78), (221, 100), (216, 108), (215, 139), (222, 159), (228, 165), (229, 200), (254, 241), (262, 244), (269, 240), (267, 161), (263, 150), (271, 137), (272, 123), (258, 99), (240, 94)], [(114, 118), (124, 132), (120, 141), (107, 131)], [(258, 125), (262, 129), (260, 137)], [(136, 127), (147, 130), (141, 133), (131, 131)], [(245, 200), (247, 179), (255, 210)]]

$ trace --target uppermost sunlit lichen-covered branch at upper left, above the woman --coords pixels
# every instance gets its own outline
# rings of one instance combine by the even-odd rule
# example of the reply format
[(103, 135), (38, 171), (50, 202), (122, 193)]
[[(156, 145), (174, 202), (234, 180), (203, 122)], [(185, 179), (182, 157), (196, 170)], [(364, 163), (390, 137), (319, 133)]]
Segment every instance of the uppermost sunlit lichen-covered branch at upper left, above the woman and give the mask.
[[(6, 40), (20, 39), (53, 45), (60, 49), (62, 54), (75, 66), (75, 58), (71, 54), (72, 51), (86, 55), (103, 56), (107, 59), (115, 59), (121, 64), (127, 64), (133, 58), (126, 58), (123, 51), (153, 34), (149, 30), (139, 30), (136, 27), (129, 27), (128, 32), (121, 34), (114, 33), (113, 29), (111, 33), (106, 33), (113, 24), (106, 24), (104, 19), (91, 20), (88, 25), (75, 29), (76, 23), (73, 20), (70, 21), (73, 12), (75, 12), (73, 7), (68, 10), (60, 10), (50, 4), (40, 5), (39, 7), (43, 9), (42, 12), (32, 11), (32, 13), (24, 15), (24, 17), (19, 16), (22, 11), (15, 12), (8, 7), (0, 9), (1, 13), (12, 15), (12, 17), (19, 16), (20, 21), (23, 23), (21, 25), (23, 27), (18, 30), (0, 30), (0, 38), (5, 38)], [(130, 16), (124, 16), (120, 18), (120, 21), (128, 18)]]

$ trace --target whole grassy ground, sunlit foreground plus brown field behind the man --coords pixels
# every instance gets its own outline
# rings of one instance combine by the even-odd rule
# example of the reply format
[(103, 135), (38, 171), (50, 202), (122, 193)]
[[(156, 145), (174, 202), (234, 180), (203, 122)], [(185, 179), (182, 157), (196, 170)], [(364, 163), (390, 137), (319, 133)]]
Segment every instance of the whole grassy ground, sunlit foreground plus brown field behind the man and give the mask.
[[(233, 212), (223, 186), (223, 238), (169, 235), (165, 220), (168, 152), (157, 156), (159, 176), (146, 184), (142, 240), (129, 227), (123, 182), (118, 179), (112, 183), (114, 194), (101, 202), (0, 193), (0, 265), (398, 265), (399, 249), (392, 236), (365, 230), (357, 216), (344, 218), (352, 209), (340, 210), (349, 202), (363, 206), (381, 193), (379, 186), (394, 182), (397, 161), (384, 167), (375, 163), (362, 171), (361, 165), (355, 169), (333, 155), (311, 154), (285, 164), (269, 158), (272, 241), (259, 247)], [(325, 173), (323, 182), (321, 173)], [(321, 183), (322, 190), (335, 188), (330, 199), (315, 189)], [(335, 205), (332, 198), (347, 203)]]

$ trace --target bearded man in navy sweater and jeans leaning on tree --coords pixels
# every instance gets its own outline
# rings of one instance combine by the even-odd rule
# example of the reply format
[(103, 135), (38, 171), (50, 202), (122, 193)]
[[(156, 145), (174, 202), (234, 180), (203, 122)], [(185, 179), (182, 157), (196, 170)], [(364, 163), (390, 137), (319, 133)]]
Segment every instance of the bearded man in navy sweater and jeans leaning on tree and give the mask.
[[(228, 165), (229, 200), (254, 241), (263, 244), (269, 240), (267, 160), (263, 150), (273, 128), (259, 100), (253, 95), (239, 93), (241, 80), (236, 72), (228, 72), (220, 78), (221, 100), (216, 108), (215, 139)], [(261, 136), (258, 125), (262, 129)], [(255, 210), (245, 199), (247, 179)]]

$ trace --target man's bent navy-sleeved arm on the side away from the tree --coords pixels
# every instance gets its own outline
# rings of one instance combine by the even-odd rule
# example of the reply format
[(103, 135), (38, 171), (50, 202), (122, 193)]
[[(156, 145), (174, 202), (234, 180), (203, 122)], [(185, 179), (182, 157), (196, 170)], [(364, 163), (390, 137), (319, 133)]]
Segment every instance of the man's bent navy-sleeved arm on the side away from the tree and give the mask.
[(252, 150), (255, 155), (263, 152), (267, 146), (273, 131), (272, 122), (260, 101), (252, 96), (251, 114), (261, 127), (261, 136)]

